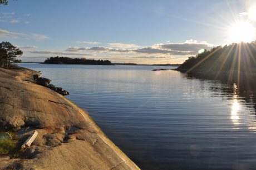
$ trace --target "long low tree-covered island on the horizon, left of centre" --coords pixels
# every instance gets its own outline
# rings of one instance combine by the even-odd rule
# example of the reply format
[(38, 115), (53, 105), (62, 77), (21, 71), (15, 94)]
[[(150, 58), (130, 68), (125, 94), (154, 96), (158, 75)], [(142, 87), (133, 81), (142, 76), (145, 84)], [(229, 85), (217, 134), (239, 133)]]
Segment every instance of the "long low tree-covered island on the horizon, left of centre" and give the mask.
[(92, 64), (92, 65), (114, 65), (109, 60), (70, 58), (70, 57), (50, 57), (43, 64)]

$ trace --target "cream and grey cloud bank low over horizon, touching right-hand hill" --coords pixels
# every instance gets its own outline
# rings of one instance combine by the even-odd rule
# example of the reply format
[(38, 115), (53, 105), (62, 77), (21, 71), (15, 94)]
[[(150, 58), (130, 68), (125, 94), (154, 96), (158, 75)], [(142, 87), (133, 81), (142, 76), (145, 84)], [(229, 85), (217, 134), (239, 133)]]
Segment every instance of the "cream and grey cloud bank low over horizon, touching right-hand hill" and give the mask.
[(153, 44), (140, 47), (135, 44), (104, 43), (105, 46), (68, 47), (67, 52), (91, 52), (95, 57), (111, 59), (112, 62), (136, 63), (181, 63), (189, 56), (198, 54), (201, 48), (211, 49), (214, 46), (206, 41), (186, 40), (183, 43)]

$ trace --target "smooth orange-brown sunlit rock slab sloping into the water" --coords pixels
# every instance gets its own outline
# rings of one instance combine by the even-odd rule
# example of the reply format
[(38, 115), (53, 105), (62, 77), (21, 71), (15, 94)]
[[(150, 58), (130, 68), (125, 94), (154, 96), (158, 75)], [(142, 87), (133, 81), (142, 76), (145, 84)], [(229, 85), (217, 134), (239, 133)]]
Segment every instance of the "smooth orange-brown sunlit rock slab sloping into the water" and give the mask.
[(1, 156), (0, 169), (139, 169), (83, 109), (36, 84), (35, 74), (0, 68), (1, 132), (10, 133), (17, 148), (38, 132), (26, 151)]

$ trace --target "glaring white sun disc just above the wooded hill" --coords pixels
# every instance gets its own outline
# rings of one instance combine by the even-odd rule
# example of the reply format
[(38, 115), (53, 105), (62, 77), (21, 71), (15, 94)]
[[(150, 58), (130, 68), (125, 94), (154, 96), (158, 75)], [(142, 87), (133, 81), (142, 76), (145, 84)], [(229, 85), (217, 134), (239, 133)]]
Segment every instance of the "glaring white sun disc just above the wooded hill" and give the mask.
[(253, 24), (248, 21), (238, 21), (228, 29), (229, 41), (234, 43), (252, 42), (255, 38)]

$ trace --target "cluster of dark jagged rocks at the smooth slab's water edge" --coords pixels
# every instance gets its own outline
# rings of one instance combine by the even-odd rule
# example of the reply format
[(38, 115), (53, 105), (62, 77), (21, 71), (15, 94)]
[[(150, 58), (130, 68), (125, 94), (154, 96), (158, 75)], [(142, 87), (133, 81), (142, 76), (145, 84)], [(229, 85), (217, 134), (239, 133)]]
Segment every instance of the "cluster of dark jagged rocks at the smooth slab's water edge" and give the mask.
[(40, 74), (34, 74), (33, 79), (34, 79), (34, 81), (36, 81), (36, 84), (50, 88), (53, 91), (55, 91), (63, 96), (70, 94), (68, 91), (65, 91), (63, 88), (54, 86), (53, 84), (50, 84), (51, 79), (48, 79), (45, 77), (40, 77)]

